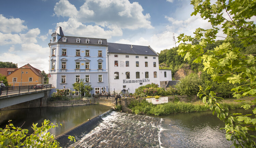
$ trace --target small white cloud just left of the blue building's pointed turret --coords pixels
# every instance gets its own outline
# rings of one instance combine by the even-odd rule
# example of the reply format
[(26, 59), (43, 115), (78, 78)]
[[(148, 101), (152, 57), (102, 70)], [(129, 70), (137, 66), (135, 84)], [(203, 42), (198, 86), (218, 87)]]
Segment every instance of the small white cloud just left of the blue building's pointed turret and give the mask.
[(30, 29), (26, 34), (19, 34), (23, 43), (37, 43), (37, 37), (40, 34), (38, 28)]

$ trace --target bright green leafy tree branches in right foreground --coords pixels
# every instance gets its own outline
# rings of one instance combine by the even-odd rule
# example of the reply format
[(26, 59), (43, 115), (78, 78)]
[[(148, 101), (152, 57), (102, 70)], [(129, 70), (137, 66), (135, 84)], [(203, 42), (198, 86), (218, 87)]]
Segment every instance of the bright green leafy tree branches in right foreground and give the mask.
[[(256, 58), (253, 55), (244, 55), (241, 53), (242, 47), (236, 46), (236, 40), (239, 40), (243, 47), (256, 44), (256, 25), (250, 19), (256, 15), (256, 0), (217, 0), (214, 4), (210, 0), (191, 0), (194, 5), (194, 12), (198, 13), (203, 19), (207, 19), (211, 29), (197, 28), (194, 32), (195, 37), (180, 34), (179, 55), (185, 56), (184, 59), (195, 59), (194, 62), (202, 62), (203, 70), (211, 75), (217, 82), (228, 82), (236, 84), (233, 88), (233, 97), (253, 96), (254, 100), (242, 105), (248, 109), (256, 105)], [(225, 36), (221, 45), (214, 50), (206, 50), (207, 43), (214, 43), (219, 31), (219, 26), (223, 29)], [(191, 44), (194, 39), (199, 44)], [(198, 96), (203, 98), (206, 106), (209, 106), (216, 112), (217, 117), (226, 124), (226, 139), (232, 140), (235, 147), (256, 147), (256, 136), (248, 131), (255, 132), (256, 118), (248, 115), (230, 114), (227, 107), (219, 104), (223, 98), (216, 97), (213, 91), (207, 87), (205, 90), (200, 88)], [(238, 100), (239, 101), (239, 100)], [(241, 101), (241, 100), (240, 100)], [(253, 109), (256, 114), (256, 108)]]

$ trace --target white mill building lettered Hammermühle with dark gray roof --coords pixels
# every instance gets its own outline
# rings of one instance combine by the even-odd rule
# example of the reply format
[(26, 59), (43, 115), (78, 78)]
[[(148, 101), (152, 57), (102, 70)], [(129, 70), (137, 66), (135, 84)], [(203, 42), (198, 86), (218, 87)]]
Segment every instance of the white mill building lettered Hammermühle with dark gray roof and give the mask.
[(150, 46), (108, 43), (108, 67), (111, 93), (134, 93), (143, 85), (160, 85), (158, 54)]

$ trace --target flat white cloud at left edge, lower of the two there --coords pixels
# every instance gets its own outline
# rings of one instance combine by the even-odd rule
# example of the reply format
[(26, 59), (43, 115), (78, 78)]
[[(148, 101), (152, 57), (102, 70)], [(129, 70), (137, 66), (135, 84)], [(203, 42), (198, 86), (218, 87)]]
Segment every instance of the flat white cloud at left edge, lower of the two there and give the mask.
[(3, 34), (0, 32), (0, 45), (9, 45), (9, 44), (20, 44), (22, 40), (18, 34), (6, 33)]

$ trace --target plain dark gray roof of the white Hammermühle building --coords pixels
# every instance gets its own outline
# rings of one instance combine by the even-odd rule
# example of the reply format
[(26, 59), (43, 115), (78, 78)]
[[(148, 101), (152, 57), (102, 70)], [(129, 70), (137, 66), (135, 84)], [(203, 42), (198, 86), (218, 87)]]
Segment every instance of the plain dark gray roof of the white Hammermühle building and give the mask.
[(150, 46), (108, 43), (109, 53), (158, 56)]

